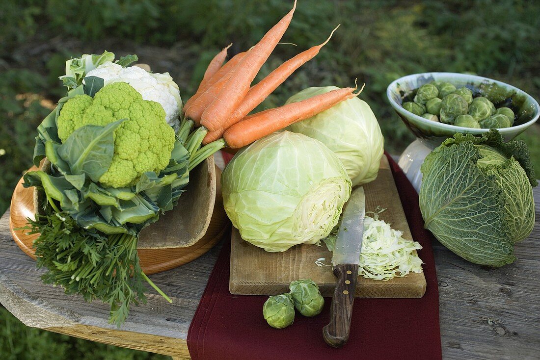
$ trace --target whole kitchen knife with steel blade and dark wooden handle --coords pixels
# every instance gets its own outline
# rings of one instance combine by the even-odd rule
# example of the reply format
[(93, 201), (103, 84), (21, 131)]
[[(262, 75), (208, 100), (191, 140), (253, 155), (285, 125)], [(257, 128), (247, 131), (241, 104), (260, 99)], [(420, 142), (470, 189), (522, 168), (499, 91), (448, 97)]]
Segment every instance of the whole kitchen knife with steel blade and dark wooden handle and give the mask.
[(332, 255), (334, 275), (338, 281), (330, 307), (330, 323), (322, 329), (322, 335), (334, 348), (342, 347), (349, 339), (365, 215), (366, 195), (363, 187), (359, 187), (350, 195), (343, 210)]

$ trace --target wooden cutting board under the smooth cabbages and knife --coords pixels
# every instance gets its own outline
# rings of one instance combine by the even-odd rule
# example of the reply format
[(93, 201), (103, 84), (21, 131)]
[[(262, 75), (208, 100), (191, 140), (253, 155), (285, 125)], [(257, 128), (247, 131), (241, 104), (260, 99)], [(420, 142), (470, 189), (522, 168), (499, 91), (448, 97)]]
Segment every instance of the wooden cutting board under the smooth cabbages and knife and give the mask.
[[(402, 230), (403, 237), (412, 239), (407, 219), (395, 186), (388, 159), (382, 157), (377, 179), (364, 186), (366, 211), (377, 206), (387, 208), (379, 216), (389, 222), (393, 229)], [(232, 230), (230, 291), (241, 295), (276, 295), (289, 291), (294, 280), (312, 279), (318, 284), (323, 296), (332, 296), (335, 277), (332, 267), (319, 267), (315, 260), (325, 257), (330, 263), (332, 253), (326, 246), (294, 246), (284, 253), (268, 253), (253, 246), (240, 237), (237, 229)], [(395, 277), (379, 281), (358, 277), (356, 297), (418, 298), (426, 293), (426, 278), (423, 273), (410, 273), (406, 277)]]

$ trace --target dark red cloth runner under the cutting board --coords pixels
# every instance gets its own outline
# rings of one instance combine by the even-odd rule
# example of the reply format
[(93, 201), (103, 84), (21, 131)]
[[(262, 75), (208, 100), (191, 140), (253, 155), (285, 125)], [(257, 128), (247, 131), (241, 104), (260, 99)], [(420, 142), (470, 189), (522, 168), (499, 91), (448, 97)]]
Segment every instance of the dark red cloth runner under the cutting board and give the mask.
[[(420, 299), (356, 298), (345, 347), (330, 348), (322, 338), (331, 298), (315, 317), (296, 314), (285, 329), (273, 329), (262, 317), (267, 296), (229, 293), (230, 240), (215, 263), (187, 334), (195, 360), (218, 359), (441, 359), (438, 289), (431, 235), (423, 228), (418, 195), (390, 158), (413, 239), (420, 242), (426, 295)], [(230, 157), (225, 155), (225, 161)]]

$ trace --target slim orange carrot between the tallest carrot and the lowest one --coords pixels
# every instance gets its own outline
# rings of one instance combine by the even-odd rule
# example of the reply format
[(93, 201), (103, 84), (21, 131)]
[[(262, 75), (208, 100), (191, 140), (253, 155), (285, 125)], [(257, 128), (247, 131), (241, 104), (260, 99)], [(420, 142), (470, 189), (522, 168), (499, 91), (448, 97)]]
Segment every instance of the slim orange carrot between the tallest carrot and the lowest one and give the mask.
[(238, 123), (238, 121), (244, 119), (249, 112), (257, 107), (266, 97), (271, 94), (279, 85), (283, 83), (291, 74), (303, 64), (313, 59), (315, 55), (319, 53), (322, 46), (328, 43), (328, 40), (332, 37), (334, 31), (339, 28), (336, 26), (326, 41), (320, 45), (312, 46), (310, 49), (303, 51), (281, 64), (277, 69), (268, 74), (267, 77), (259, 81), (257, 85), (254, 85), (249, 89), (246, 97), (242, 100), (238, 108), (233, 112), (232, 116), (225, 119), (225, 123), (217, 131), (211, 131), (206, 134), (203, 140), (203, 144), (209, 144), (210, 142), (221, 138), (221, 135), (232, 125)]

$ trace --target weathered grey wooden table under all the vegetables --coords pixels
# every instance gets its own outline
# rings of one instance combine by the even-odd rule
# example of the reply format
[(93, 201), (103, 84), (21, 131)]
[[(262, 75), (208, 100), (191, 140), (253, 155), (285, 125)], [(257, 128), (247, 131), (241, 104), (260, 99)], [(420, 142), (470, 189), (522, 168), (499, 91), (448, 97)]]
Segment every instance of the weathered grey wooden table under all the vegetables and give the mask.
[[(540, 358), (540, 186), (535, 229), (515, 247), (518, 260), (500, 269), (464, 261), (434, 244), (445, 359)], [(107, 306), (85, 303), (39, 280), (43, 270), (11, 239), (0, 220), (0, 302), (23, 323), (107, 344), (188, 358), (187, 330), (221, 245), (176, 269), (152, 275), (173, 304), (148, 294), (122, 330), (107, 324)], [(374, 299), (373, 301), (377, 301)]]

